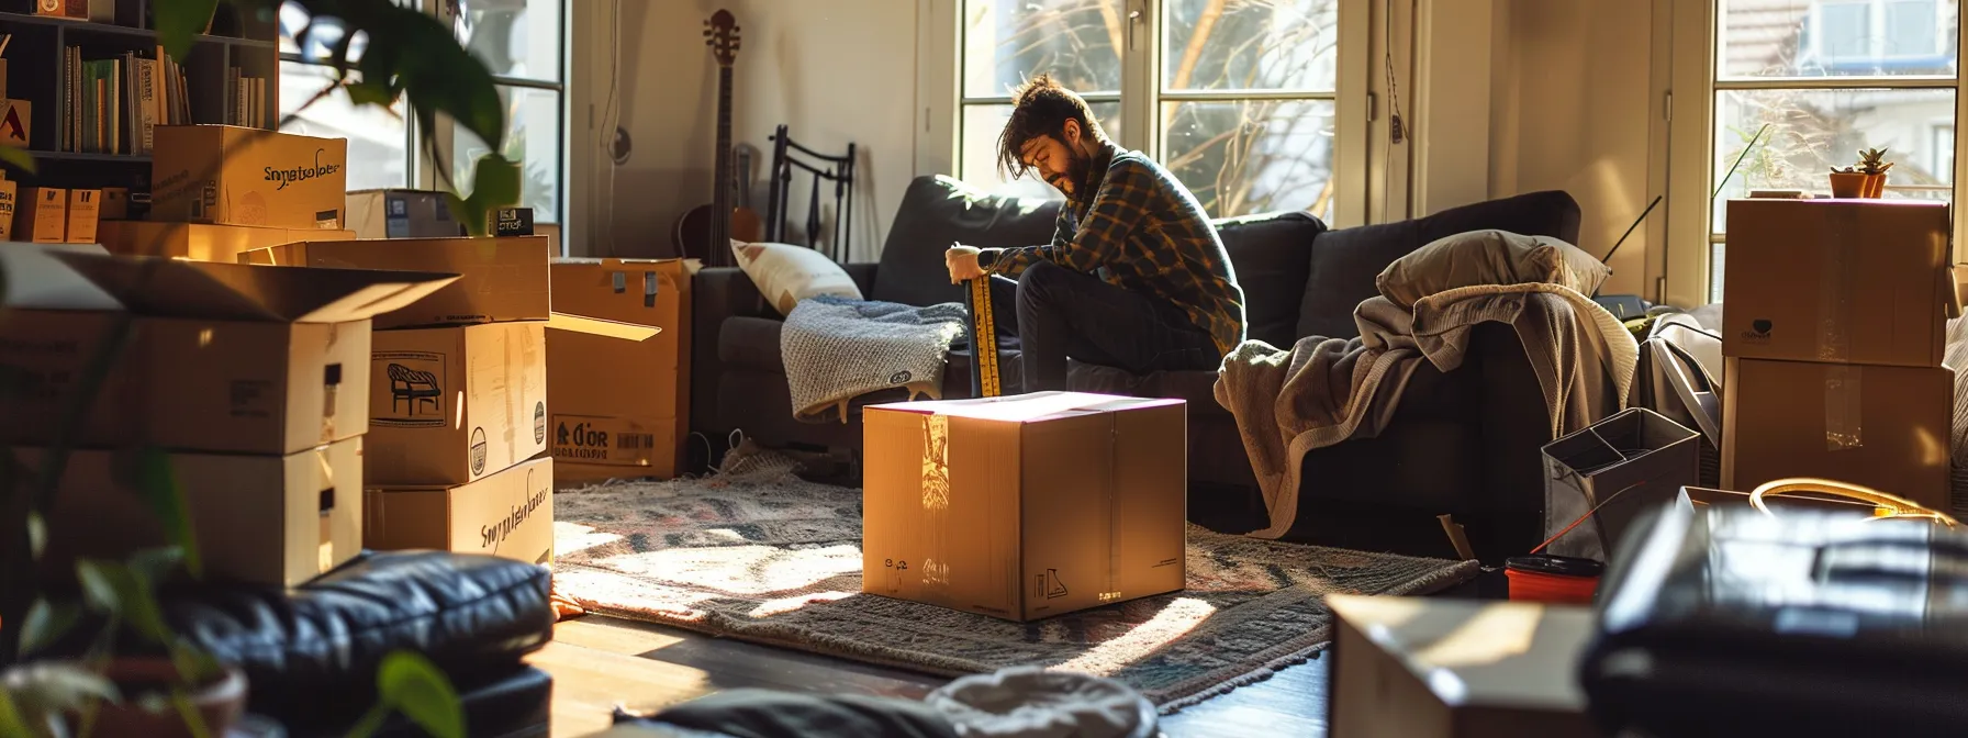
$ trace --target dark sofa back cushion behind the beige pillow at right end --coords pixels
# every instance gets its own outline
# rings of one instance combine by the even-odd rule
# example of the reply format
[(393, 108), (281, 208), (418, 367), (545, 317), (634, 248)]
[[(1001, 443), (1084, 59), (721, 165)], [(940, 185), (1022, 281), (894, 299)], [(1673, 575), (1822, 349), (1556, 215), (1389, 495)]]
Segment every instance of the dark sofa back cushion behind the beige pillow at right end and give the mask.
[(1297, 337), (1358, 337), (1352, 313), (1360, 301), (1380, 293), (1374, 279), (1387, 264), (1437, 238), (1486, 228), (1576, 244), (1578, 201), (1563, 191), (1543, 191), (1454, 207), (1415, 220), (1326, 230), (1313, 242)]

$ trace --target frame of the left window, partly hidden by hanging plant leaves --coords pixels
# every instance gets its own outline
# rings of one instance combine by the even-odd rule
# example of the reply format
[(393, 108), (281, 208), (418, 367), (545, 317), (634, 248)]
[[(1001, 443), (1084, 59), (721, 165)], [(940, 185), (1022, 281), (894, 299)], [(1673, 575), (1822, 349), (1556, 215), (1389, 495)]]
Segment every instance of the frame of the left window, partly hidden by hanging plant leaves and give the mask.
[[(575, 2), (573, 0), (553, 0), (553, 2), (555, 2), (557, 10), (561, 14), (561, 37), (557, 39), (557, 43), (559, 43), (559, 53), (557, 53), (557, 63), (559, 63), (557, 71), (559, 71), (559, 75), (557, 77), (559, 79), (557, 81), (541, 81), (541, 79), (492, 75), (492, 85), (494, 85), (494, 89), (508, 87), (508, 89), (543, 91), (543, 92), (551, 92), (551, 94), (555, 94), (559, 98), (559, 102), (561, 102), (559, 104), (561, 124), (557, 126), (557, 138), (555, 138), (557, 161), (555, 161), (555, 167), (553, 167), (553, 177), (555, 177), (555, 183), (553, 183), (553, 187), (555, 187), (553, 205), (555, 205), (555, 213), (549, 213), (549, 216), (545, 216), (545, 218), (539, 213), (535, 213), (533, 220), (535, 222), (543, 222), (543, 224), (551, 222), (551, 224), (557, 224), (561, 228), (567, 228), (567, 220), (569, 220), (567, 218), (567, 215), (569, 215), (567, 201), (571, 197), (571, 187), (569, 187), (571, 185), (571, 177), (569, 177), (569, 173), (571, 173), (571, 159), (573, 159), (571, 150), (567, 146), (567, 142), (569, 142), (569, 124), (571, 124), (569, 110), (573, 110), (573, 85), (571, 85), (569, 77), (575, 71), (573, 65), (569, 63), (569, 59), (571, 59), (569, 47), (573, 45), (569, 41), (573, 39), (571, 31), (573, 31), (573, 22), (575, 22), (575, 14), (573, 14), (573, 4)], [(453, 2), (445, 2), (445, 0), (413, 0), (413, 4), (417, 6), (417, 12), (437, 18), (441, 24), (445, 24), (445, 28), (457, 28), (457, 18), (451, 14)], [(279, 73), (279, 65), (281, 63), (295, 63), (295, 65), (309, 65), (309, 67), (327, 67), (327, 65), (319, 63), (319, 61), (311, 61), (311, 59), (303, 57), (301, 53), (279, 51), (276, 55), (276, 61), (274, 61), (276, 75)], [(276, 124), (277, 124), (277, 120), (276, 120)], [(510, 126), (510, 122), (508, 122), (508, 126)], [(405, 157), (407, 157), (405, 169), (403, 169), (405, 171), (405, 183), (403, 183), (403, 187), (411, 187), (411, 189), (439, 189), (441, 181), (439, 181), (437, 161), (445, 161), (445, 163), (453, 163), (453, 165), (457, 161), (457, 157), (453, 155), (455, 154), (453, 152), (455, 124), (453, 124), (453, 120), (449, 116), (439, 116), (437, 120), (431, 122), (431, 132), (429, 132), (431, 136), (429, 138), (431, 138), (431, 148), (437, 152), (437, 155), (431, 155), (429, 152), (425, 152), (423, 146), (419, 146), (419, 140), (423, 138), (421, 132), (419, 132), (419, 128), (421, 126), (417, 124), (415, 116), (405, 116), (403, 118), (403, 138), (405, 138), (403, 152), (405, 152)], [(457, 187), (461, 183), (453, 183), (453, 185)], [(565, 244), (565, 240), (563, 240), (563, 244)]]

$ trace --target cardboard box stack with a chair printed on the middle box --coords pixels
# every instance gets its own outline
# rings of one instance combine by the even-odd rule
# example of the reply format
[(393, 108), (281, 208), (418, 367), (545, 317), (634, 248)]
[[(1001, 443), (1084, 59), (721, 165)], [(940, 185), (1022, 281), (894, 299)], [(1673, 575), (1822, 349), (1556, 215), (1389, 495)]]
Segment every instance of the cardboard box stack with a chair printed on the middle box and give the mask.
[(553, 555), (547, 240), (315, 240), (250, 264), (431, 270), (451, 283), (376, 319), (364, 539), (522, 561)]

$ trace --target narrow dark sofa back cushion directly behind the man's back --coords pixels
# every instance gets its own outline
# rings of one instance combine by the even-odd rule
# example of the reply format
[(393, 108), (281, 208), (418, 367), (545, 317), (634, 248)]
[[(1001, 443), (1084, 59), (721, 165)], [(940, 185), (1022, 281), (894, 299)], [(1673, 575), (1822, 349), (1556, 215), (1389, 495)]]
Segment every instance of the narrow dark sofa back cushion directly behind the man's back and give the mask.
[(1216, 234), (1244, 287), (1246, 338), (1291, 346), (1299, 303), (1305, 301), (1305, 270), (1313, 264), (1313, 236), (1324, 230), (1326, 224), (1307, 213), (1216, 220)]

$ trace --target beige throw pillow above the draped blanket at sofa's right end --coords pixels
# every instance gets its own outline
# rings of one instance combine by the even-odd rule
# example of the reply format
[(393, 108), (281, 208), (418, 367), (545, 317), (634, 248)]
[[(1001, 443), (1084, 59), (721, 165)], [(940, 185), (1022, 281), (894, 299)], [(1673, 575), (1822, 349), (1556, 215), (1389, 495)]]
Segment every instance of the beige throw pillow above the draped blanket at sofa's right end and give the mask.
[(1470, 230), (1439, 238), (1393, 260), (1374, 283), (1401, 307), (1456, 287), (1549, 281), (1592, 295), (1612, 268), (1549, 236)]

